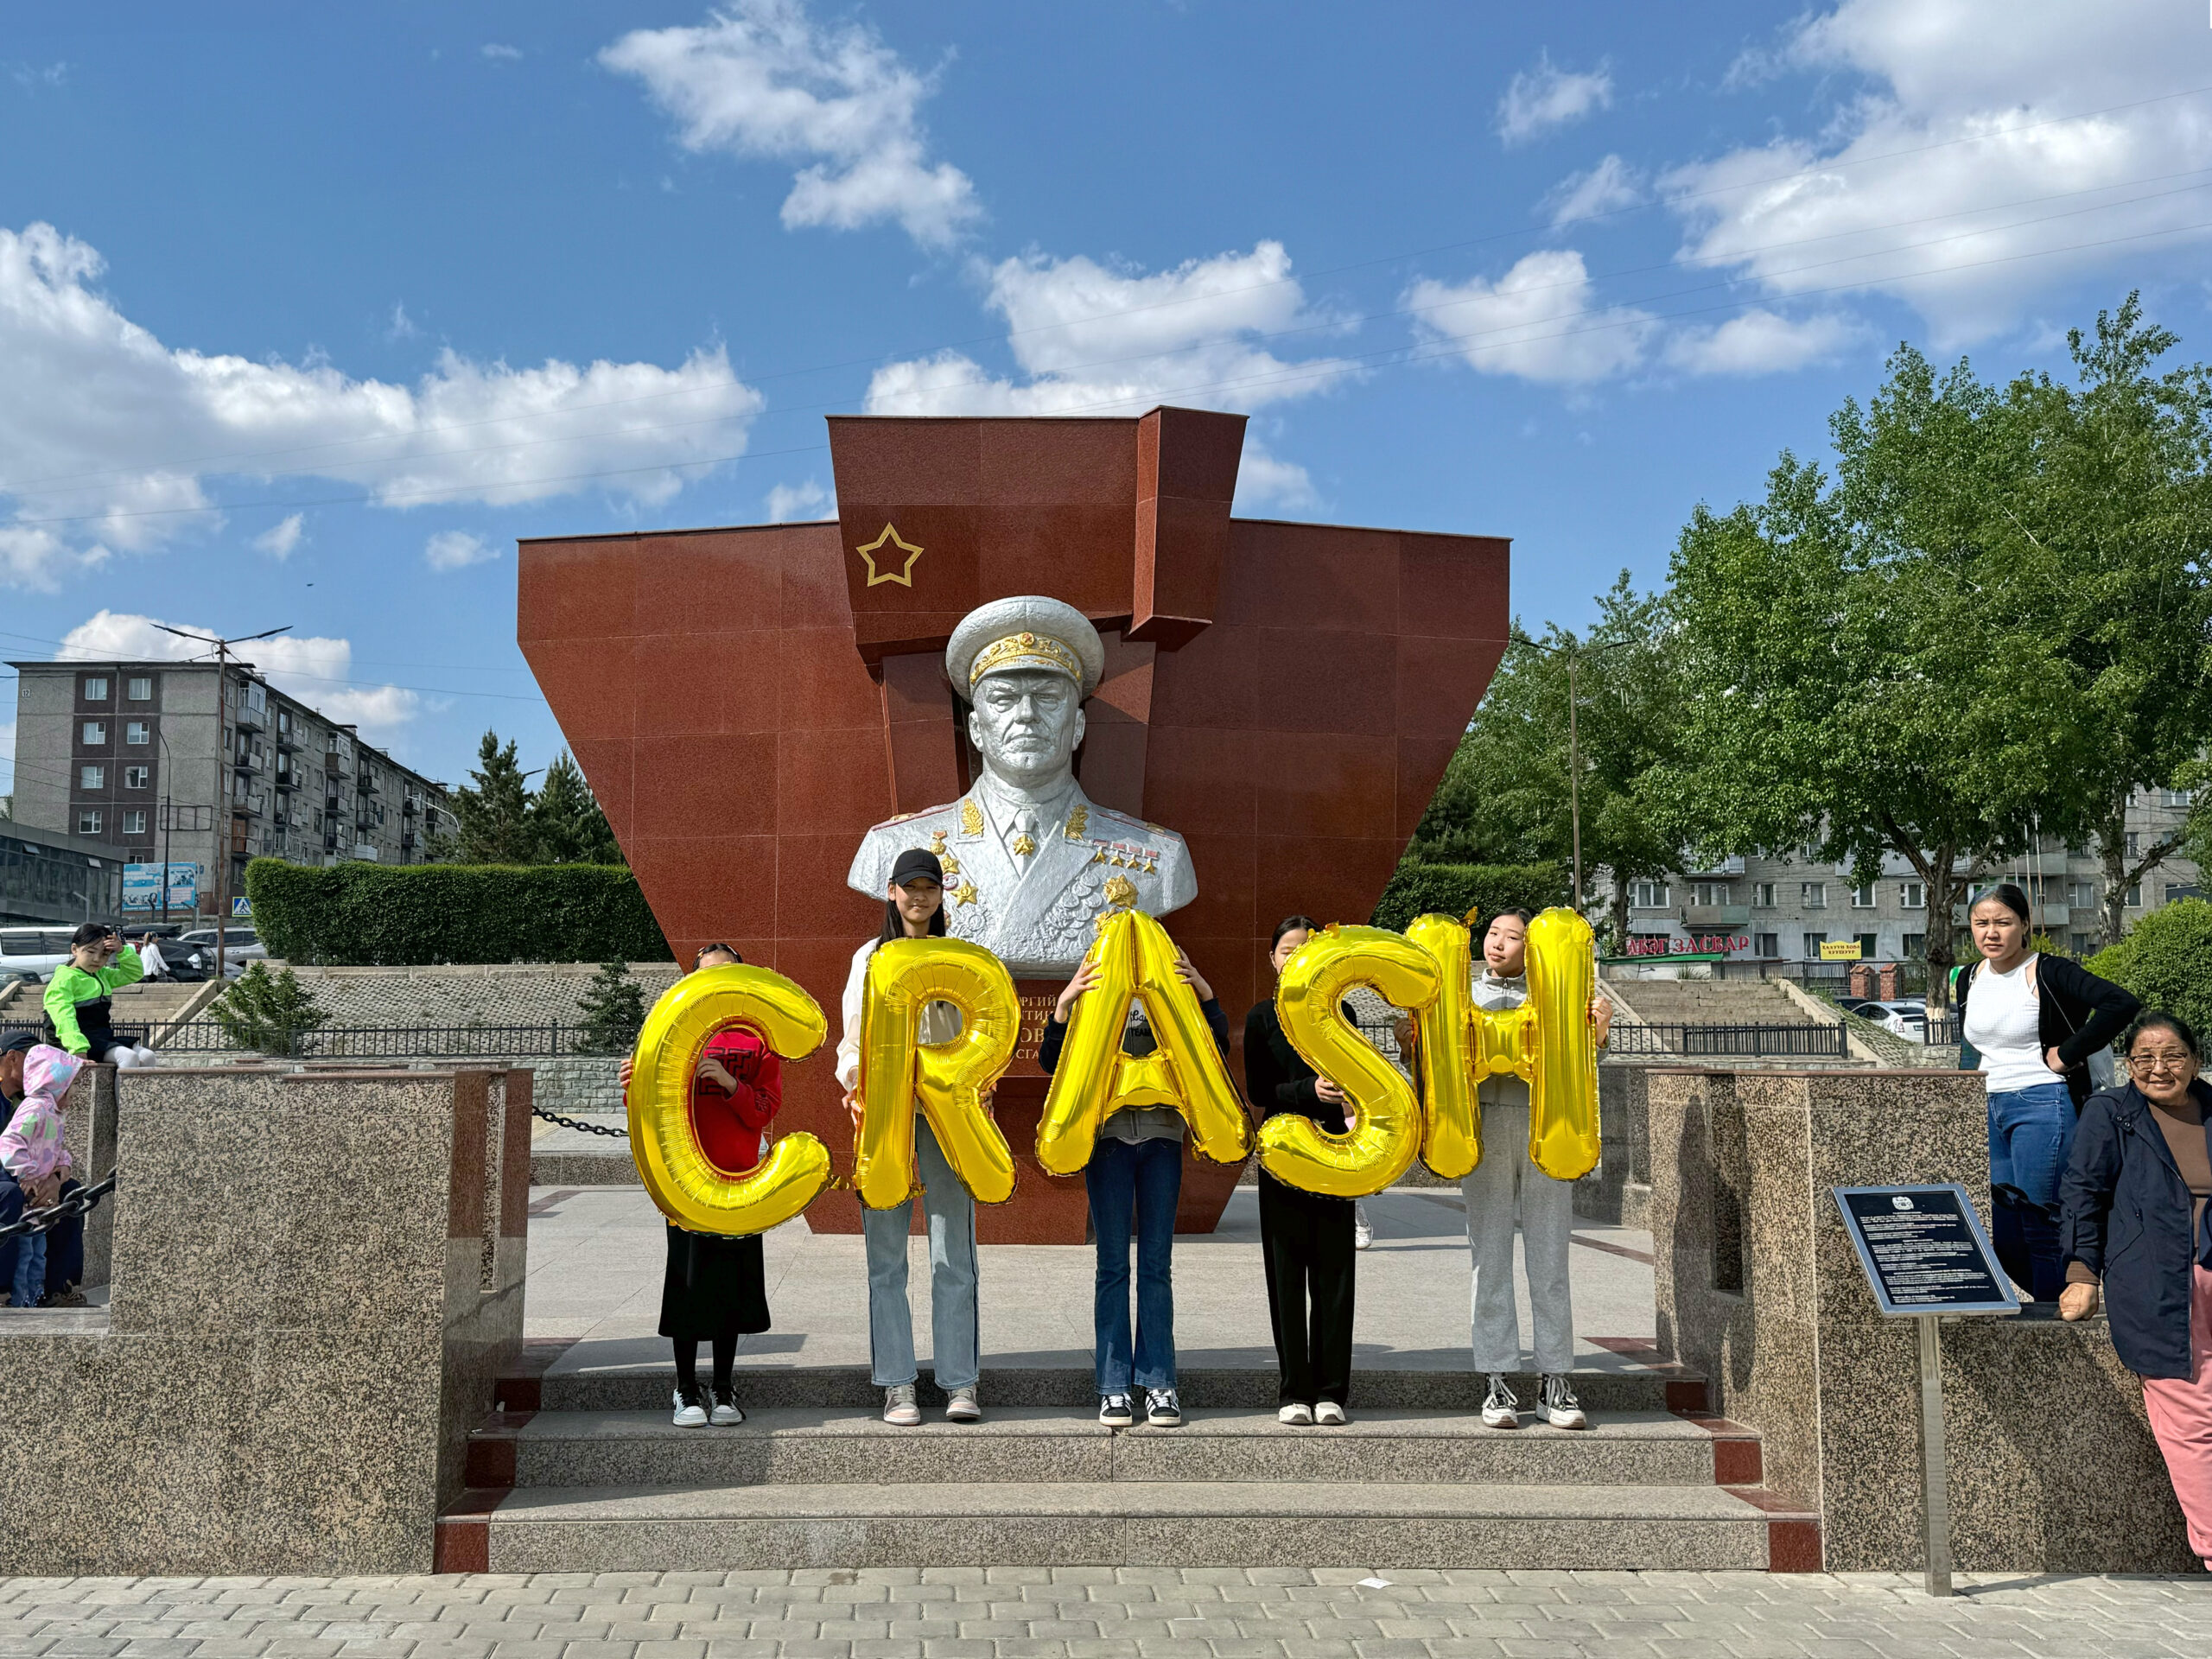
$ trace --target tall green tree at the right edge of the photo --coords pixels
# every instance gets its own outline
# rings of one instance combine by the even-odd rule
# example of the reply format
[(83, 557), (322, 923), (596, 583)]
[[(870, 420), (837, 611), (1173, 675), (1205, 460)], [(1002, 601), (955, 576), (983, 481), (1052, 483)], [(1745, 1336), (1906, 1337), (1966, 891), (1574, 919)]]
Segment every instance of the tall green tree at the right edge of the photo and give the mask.
[[(1997, 502), (1993, 573), (2011, 626), (2048, 641), (2037, 697), (2068, 765), (2037, 827), (2095, 845), (2101, 938), (2117, 945), (2128, 889), (2181, 852), (2192, 825), (2128, 845), (2137, 790), (2181, 781), (2212, 730), (2212, 378), (2154, 374), (2179, 336), (2128, 294), (2073, 330), (2077, 385), (2006, 387), (2013, 478)], [(2201, 830), (2199, 830), (2201, 834)]]

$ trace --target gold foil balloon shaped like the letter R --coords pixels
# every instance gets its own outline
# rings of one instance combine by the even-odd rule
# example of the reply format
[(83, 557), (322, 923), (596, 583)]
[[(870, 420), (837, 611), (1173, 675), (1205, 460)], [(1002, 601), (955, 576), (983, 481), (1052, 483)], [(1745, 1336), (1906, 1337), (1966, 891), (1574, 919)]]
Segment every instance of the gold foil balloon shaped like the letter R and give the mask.
[[(951, 1002), (960, 1035), (922, 1046), (922, 1009)], [(896, 938), (867, 958), (860, 1013), (860, 1133), (852, 1183), (869, 1210), (914, 1197), (914, 1106), (978, 1203), (1013, 1197), (1013, 1152), (982, 1097), (1022, 1033), (1013, 975), (962, 938)]]

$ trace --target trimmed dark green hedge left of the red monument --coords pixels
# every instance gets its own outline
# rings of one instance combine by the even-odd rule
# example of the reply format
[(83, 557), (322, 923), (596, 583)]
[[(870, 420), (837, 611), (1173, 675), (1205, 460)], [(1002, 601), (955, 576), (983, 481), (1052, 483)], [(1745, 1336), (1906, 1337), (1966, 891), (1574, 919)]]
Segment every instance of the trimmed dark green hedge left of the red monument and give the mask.
[(270, 956), (327, 967), (666, 962), (622, 865), (246, 865)]

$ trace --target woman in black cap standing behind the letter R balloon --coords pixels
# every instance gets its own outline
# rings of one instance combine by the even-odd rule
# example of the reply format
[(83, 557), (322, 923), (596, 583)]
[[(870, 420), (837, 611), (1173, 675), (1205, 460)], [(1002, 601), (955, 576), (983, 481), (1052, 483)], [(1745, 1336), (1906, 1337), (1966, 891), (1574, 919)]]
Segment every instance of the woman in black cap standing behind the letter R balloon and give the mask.
[[(911, 847), (891, 865), (891, 885), (883, 905), (883, 931), (852, 953), (845, 975), (845, 1035), (836, 1044), (836, 1079), (845, 1086), (845, 1110), (854, 1133), (860, 1130), (860, 1020), (867, 1006), (867, 962), (880, 945), (894, 938), (942, 938), (945, 933), (945, 865), (936, 854)], [(922, 1042), (951, 1042), (960, 1035), (960, 1011), (951, 1002), (922, 1006)], [(982, 1400), (982, 1338), (975, 1327), (975, 1199), (945, 1161), (929, 1119), (914, 1115), (914, 1172), (922, 1181), (922, 1214), (929, 1219), (929, 1323), (936, 1343), (936, 1376), (945, 1389), (945, 1416), (953, 1422), (978, 1422)], [(914, 1199), (889, 1210), (860, 1208), (860, 1237), (867, 1243), (867, 1347), (872, 1376), (883, 1389), (883, 1420), (911, 1429), (922, 1420), (914, 1400), (920, 1367), (914, 1358), (914, 1312), (907, 1307), (907, 1234), (914, 1228)]]

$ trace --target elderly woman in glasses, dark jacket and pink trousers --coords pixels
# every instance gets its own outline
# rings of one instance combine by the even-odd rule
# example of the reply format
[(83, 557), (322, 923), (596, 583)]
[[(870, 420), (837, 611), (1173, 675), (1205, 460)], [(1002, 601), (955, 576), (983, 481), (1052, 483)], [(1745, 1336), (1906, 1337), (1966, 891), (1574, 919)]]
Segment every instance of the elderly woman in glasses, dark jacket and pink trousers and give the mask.
[(2212, 1571), (2212, 1086), (2185, 1020), (2146, 1013), (2128, 1033), (2128, 1082), (2088, 1097), (2059, 1183), (2062, 1318), (2097, 1312), (2143, 1378), (2143, 1409)]

